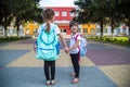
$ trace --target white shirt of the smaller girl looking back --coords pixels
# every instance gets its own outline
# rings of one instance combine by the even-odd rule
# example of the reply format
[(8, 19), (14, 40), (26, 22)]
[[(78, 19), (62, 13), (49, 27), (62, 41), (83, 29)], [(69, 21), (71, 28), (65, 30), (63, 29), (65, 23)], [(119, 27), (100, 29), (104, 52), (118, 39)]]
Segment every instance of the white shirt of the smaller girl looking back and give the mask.
[[(77, 36), (78, 35), (78, 36)], [(79, 35), (79, 33), (73, 35), (70, 37), (70, 44), (69, 44), (69, 48), (73, 47), (75, 44), (76, 44), (76, 36), (77, 36), (77, 39), (81, 40), (81, 36)], [(79, 46), (80, 46), (80, 41), (79, 41)], [(75, 48), (73, 49), (72, 51), (69, 51), (69, 53), (74, 54), (74, 53), (78, 53), (79, 52), (79, 48)]]

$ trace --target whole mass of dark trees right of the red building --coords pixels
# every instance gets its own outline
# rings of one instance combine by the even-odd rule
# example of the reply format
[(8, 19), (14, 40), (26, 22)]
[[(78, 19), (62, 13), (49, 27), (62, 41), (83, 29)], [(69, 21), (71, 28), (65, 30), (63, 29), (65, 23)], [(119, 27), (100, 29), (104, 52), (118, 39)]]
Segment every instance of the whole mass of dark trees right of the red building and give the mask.
[(112, 26), (112, 34), (114, 27), (122, 22), (130, 27), (130, 0), (76, 0), (75, 4), (78, 5), (78, 16), (74, 20), (82, 24), (100, 23), (101, 37), (105, 24)]

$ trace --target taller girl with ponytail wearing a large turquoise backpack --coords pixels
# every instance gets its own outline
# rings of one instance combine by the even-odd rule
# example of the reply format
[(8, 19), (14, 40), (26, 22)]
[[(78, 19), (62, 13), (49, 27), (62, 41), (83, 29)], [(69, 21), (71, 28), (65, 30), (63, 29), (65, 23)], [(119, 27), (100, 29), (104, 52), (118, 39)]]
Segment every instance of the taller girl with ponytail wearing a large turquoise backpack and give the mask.
[(58, 26), (53, 23), (54, 11), (52, 9), (44, 10), (43, 17), (46, 23), (40, 25), (38, 29), (36, 58), (44, 60), (46, 84), (53, 85), (55, 84), (55, 60), (58, 58), (60, 52), (58, 37), (65, 50), (67, 50), (67, 46)]

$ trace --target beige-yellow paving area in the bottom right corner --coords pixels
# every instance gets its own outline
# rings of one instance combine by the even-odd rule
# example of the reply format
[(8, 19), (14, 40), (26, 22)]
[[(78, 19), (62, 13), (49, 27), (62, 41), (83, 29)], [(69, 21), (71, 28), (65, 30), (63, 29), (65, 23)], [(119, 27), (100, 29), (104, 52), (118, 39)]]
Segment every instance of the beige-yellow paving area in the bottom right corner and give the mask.
[(99, 66), (118, 87), (130, 87), (130, 65)]

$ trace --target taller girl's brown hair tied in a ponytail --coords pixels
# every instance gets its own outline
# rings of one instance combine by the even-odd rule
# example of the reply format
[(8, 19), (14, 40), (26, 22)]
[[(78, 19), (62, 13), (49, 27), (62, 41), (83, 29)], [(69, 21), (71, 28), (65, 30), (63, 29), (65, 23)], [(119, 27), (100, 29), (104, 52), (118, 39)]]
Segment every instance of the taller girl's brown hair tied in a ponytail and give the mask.
[[(43, 11), (43, 17), (46, 21), (52, 20), (54, 16), (54, 11), (52, 9), (47, 9)], [(47, 22), (47, 28), (46, 30), (49, 33), (50, 32), (50, 23)]]

